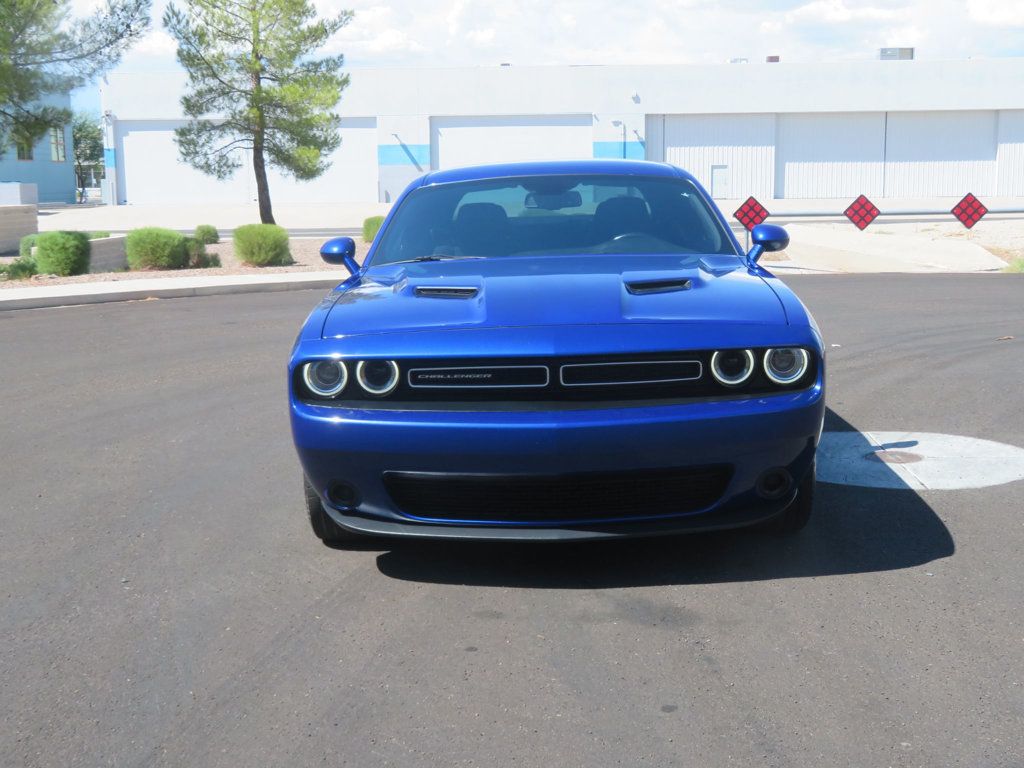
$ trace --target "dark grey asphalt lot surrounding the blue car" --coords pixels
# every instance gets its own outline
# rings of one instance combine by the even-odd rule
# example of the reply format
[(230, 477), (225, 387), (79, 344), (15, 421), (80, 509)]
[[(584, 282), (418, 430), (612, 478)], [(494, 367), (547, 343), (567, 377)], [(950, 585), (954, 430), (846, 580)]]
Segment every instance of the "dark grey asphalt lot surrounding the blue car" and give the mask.
[[(787, 282), (827, 429), (1024, 446), (1024, 280)], [(322, 294), (0, 312), (0, 764), (1024, 765), (1024, 481), (330, 550), (284, 376)]]

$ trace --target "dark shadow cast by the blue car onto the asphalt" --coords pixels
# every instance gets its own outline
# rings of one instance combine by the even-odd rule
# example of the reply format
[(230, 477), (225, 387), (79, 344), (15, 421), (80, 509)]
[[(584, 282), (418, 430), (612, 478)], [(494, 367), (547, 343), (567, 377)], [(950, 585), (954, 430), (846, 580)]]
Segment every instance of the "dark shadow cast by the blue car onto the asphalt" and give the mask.
[[(856, 431), (828, 411), (827, 431)], [(864, 449), (870, 444), (866, 438)], [(901, 484), (901, 483), (900, 483)], [(796, 536), (766, 530), (574, 544), (387, 543), (393, 579), (534, 589), (716, 584), (896, 570), (949, 557), (949, 530), (915, 490), (819, 482), (815, 513)]]

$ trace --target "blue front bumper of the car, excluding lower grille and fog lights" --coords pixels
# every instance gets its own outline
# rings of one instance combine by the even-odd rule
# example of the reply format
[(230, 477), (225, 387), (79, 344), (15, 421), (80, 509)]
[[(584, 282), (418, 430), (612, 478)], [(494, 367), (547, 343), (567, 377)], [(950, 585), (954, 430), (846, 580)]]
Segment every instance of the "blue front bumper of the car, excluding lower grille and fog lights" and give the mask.
[[(339, 525), (378, 536), (479, 540), (578, 540), (739, 527), (769, 519), (796, 496), (812, 466), (824, 417), (823, 372), (806, 390), (765, 396), (613, 409), (389, 411), (316, 406), (293, 398), (302, 467)], [(679, 514), (531, 522), (429, 521), (399, 509), (385, 472), (561, 475), (727, 464), (714, 504)], [(794, 489), (768, 501), (758, 478), (782, 467)], [(328, 489), (356, 489), (348, 506)]]

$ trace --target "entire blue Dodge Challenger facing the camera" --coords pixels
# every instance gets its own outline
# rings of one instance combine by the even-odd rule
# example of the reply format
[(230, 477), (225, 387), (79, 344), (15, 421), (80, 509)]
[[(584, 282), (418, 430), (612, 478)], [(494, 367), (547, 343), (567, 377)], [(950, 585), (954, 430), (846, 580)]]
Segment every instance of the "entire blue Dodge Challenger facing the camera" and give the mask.
[(810, 313), (688, 173), (436, 171), (289, 365), (313, 531), (478, 540), (802, 528), (824, 417)]

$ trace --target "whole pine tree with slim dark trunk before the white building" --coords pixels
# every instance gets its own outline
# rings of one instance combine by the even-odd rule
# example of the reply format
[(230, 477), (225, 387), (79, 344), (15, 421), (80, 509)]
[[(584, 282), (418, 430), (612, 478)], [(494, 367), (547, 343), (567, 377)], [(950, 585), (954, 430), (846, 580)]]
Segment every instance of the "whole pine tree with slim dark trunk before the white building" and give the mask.
[(267, 165), (315, 178), (341, 143), (333, 110), (348, 85), (344, 57), (312, 53), (351, 17), (318, 18), (309, 0), (185, 0), (164, 14), (188, 73), (181, 159), (226, 178), (251, 152), (264, 223), (273, 223)]

